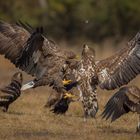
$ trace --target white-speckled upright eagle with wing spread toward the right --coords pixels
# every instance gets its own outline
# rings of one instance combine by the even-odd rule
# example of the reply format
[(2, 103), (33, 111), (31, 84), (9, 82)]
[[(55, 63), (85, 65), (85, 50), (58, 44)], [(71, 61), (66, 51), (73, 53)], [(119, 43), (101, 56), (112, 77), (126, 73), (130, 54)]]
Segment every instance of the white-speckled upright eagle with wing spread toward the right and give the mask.
[(129, 83), (140, 73), (140, 33), (113, 56), (95, 60), (95, 51), (84, 46), (82, 59), (72, 72), (79, 82), (85, 116), (98, 110), (96, 87), (113, 90)]

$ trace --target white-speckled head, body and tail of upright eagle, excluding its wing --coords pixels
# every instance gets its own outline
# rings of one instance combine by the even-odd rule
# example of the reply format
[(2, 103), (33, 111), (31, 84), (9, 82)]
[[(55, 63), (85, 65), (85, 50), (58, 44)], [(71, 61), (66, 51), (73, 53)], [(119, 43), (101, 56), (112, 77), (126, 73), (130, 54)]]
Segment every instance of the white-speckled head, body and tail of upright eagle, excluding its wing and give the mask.
[(83, 103), (84, 117), (95, 117), (98, 111), (95, 51), (84, 45), (81, 57), (81, 61), (73, 69), (72, 73), (76, 81), (78, 81), (78, 90)]

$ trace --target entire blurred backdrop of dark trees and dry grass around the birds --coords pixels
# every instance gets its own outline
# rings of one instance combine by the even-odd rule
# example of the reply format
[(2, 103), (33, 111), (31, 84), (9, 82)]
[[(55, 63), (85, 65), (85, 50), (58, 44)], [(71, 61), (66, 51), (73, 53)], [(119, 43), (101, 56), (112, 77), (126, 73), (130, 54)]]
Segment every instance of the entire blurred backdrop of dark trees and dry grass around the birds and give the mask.
[[(87, 43), (95, 49), (96, 59), (102, 59), (125, 47), (140, 30), (140, 0), (0, 0), (0, 20), (43, 26), (47, 38), (59, 46), (80, 54)], [(16, 71), (0, 55), (0, 87)], [(23, 74), (24, 82), (32, 79)], [(140, 87), (139, 83), (137, 76), (130, 85)], [(103, 107), (115, 91), (97, 90), (97, 119), (86, 123), (80, 102), (73, 103), (66, 116), (55, 116), (44, 108), (50, 93), (47, 86), (28, 90), (8, 113), (0, 113), (0, 140), (140, 140), (135, 135), (136, 114), (112, 124), (101, 120)]]

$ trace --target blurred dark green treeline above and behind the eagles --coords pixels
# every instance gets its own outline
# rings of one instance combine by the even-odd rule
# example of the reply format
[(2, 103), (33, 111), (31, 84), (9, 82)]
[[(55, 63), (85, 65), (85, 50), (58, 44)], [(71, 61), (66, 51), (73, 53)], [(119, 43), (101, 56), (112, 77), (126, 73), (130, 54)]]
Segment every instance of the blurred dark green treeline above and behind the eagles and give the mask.
[(139, 0), (1, 0), (0, 18), (43, 26), (56, 41), (119, 42), (139, 31), (139, 5)]

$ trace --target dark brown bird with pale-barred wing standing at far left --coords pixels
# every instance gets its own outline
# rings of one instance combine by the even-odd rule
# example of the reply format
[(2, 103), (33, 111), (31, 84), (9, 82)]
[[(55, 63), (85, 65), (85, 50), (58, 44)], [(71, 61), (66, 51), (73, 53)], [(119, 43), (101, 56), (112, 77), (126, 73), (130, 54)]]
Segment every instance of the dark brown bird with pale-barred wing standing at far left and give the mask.
[(11, 83), (0, 89), (0, 107), (4, 112), (7, 112), (9, 105), (20, 96), (22, 80), (22, 73), (17, 72), (12, 76)]

